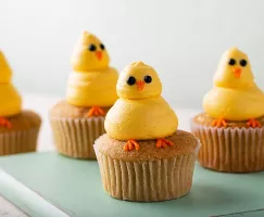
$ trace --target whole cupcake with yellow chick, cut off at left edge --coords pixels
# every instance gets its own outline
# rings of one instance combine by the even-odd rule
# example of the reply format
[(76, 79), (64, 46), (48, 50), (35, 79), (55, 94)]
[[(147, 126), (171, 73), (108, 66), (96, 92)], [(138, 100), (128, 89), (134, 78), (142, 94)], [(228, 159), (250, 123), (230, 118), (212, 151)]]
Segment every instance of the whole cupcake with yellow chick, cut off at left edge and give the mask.
[(0, 155), (34, 152), (40, 117), (22, 110), (22, 99), (11, 82), (12, 71), (0, 51)]

